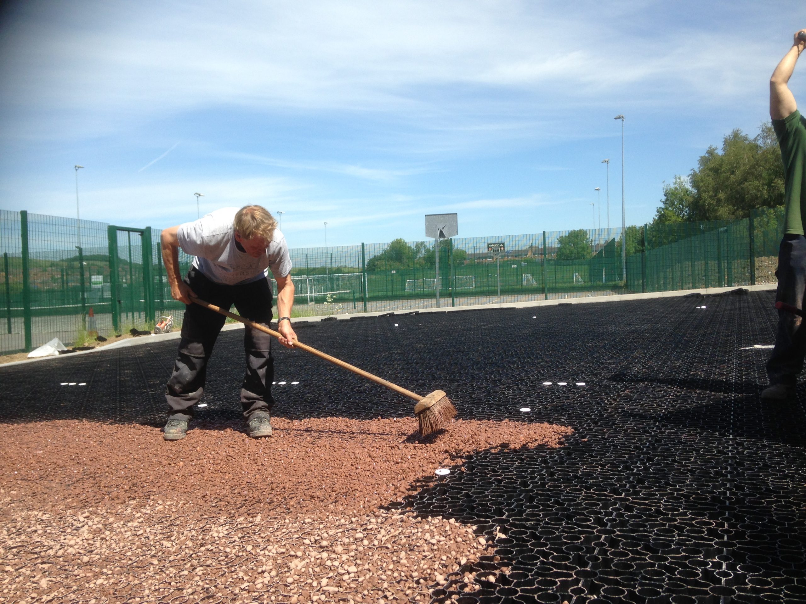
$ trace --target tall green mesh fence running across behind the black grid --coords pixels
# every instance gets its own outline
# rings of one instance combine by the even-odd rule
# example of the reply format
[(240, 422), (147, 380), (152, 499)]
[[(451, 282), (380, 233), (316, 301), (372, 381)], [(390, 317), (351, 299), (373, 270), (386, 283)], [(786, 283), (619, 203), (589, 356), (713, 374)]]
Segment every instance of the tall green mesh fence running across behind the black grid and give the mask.
[[(79, 228), (80, 227), (80, 228)], [(737, 221), (293, 248), (294, 316), (775, 283), (783, 209)], [(0, 353), (153, 329), (172, 300), (160, 231), (0, 211)], [(185, 275), (193, 258), (180, 251)], [(439, 271), (437, 274), (437, 264)], [(276, 285), (275, 285), (276, 288)], [(437, 302), (437, 298), (439, 301)]]

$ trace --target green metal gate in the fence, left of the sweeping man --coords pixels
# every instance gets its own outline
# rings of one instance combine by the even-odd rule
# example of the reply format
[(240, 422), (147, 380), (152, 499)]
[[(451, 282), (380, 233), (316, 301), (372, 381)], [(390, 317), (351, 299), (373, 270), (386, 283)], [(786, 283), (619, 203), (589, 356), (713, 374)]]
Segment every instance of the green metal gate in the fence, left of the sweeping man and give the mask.
[(110, 225), (109, 272), (112, 325), (122, 329), (154, 329), (154, 279), (151, 227)]

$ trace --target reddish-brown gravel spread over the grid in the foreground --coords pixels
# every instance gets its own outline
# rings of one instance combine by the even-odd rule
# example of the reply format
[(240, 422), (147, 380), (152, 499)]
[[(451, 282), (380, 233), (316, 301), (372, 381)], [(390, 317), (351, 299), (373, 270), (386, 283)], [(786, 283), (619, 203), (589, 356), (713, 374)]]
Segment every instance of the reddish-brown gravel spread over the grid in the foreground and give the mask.
[(447, 581), (474, 590), (457, 571), (492, 547), (474, 527), (378, 506), (462, 453), (556, 447), (571, 433), (457, 420), (417, 441), (408, 419), (272, 424), (260, 441), (228, 428), (172, 443), (140, 425), (0, 426), (0, 601), (427, 602)]

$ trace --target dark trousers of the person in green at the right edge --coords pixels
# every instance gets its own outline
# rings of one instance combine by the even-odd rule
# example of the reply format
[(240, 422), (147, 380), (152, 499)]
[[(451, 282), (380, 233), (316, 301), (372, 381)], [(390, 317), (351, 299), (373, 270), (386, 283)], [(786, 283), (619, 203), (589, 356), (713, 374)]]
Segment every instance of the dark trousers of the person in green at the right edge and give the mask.
[[(775, 300), (804, 308), (806, 292), (806, 237), (783, 236), (778, 252), (778, 292)], [(778, 312), (775, 348), (767, 361), (767, 377), (771, 384), (795, 386), (806, 356), (806, 329), (803, 319), (791, 312)]]

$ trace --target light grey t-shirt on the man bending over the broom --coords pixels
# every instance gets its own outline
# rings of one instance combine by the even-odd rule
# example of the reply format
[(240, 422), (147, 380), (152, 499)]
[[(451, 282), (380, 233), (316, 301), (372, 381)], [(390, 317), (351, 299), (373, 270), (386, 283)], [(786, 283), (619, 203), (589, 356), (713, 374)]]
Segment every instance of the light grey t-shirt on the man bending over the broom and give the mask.
[(263, 254), (252, 258), (238, 249), (232, 222), (239, 208), (222, 208), (196, 221), (185, 222), (177, 230), (179, 246), (195, 256), (193, 266), (203, 275), (222, 285), (251, 283), (268, 275), (285, 277), (291, 272), (289, 246), (279, 229)]

